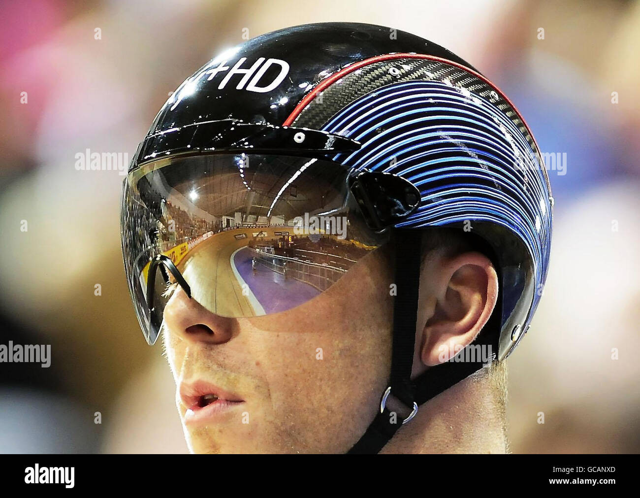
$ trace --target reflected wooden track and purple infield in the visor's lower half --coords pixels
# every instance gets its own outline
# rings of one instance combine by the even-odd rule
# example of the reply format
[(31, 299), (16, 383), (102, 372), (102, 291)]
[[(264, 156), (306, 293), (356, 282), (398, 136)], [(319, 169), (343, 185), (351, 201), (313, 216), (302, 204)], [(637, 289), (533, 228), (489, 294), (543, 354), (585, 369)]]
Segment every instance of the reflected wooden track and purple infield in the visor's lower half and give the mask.
[(292, 227), (281, 225), (227, 229), (202, 240), (177, 266), (205, 308), (249, 317), (306, 303), (369, 252), (335, 236), (288, 234)]

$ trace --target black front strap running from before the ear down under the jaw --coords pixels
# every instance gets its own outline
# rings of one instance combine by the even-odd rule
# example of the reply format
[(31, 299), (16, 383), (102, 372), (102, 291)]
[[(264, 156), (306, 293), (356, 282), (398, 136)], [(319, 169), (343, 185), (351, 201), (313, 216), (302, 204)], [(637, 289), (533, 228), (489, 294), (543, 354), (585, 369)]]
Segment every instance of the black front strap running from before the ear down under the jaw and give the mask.
[[(413, 406), (411, 369), (417, 324), (421, 238), (420, 230), (397, 229), (395, 232), (396, 296), (389, 386), (392, 396), (410, 408)], [(349, 453), (378, 453), (402, 422), (400, 415), (394, 416), (385, 406)]]

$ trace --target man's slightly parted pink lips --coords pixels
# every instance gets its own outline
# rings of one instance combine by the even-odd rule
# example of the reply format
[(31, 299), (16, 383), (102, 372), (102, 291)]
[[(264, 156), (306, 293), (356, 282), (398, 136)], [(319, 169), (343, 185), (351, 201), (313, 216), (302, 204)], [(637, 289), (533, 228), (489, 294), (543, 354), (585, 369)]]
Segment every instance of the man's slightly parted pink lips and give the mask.
[(204, 380), (180, 383), (179, 391), (182, 404), (187, 408), (186, 424), (213, 421), (244, 403), (244, 399), (236, 394)]

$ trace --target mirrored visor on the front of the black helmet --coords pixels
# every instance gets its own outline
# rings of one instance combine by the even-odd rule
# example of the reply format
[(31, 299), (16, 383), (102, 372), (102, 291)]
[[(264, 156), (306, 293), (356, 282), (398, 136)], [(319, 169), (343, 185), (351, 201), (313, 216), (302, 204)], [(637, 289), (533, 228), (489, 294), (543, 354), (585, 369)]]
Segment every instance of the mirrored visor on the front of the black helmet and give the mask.
[(278, 313), (382, 245), (349, 195), (348, 172), (308, 157), (212, 154), (129, 173), (122, 252), (147, 342), (180, 288), (220, 316)]

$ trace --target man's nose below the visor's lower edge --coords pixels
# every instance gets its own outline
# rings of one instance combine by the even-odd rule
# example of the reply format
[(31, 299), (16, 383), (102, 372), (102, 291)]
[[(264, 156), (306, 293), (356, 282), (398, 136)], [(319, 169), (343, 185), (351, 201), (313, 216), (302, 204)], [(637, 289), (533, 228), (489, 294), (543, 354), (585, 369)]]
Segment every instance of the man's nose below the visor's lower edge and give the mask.
[(232, 337), (232, 318), (212, 313), (180, 288), (166, 303), (163, 318), (168, 332), (180, 339), (222, 344)]

